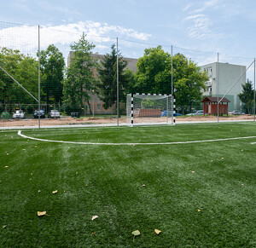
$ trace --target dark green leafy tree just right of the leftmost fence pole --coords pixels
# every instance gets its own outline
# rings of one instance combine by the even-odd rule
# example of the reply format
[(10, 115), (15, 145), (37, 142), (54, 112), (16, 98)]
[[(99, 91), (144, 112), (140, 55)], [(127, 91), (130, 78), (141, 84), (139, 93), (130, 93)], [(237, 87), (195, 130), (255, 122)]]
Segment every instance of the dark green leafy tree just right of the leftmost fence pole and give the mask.
[[(42, 88), (45, 93), (45, 101), (48, 105), (50, 98), (54, 104), (61, 102), (63, 90), (63, 70), (65, 61), (62, 53), (51, 44), (40, 56), (41, 70), (44, 74), (42, 78)], [(52, 103), (52, 102), (51, 102)]]

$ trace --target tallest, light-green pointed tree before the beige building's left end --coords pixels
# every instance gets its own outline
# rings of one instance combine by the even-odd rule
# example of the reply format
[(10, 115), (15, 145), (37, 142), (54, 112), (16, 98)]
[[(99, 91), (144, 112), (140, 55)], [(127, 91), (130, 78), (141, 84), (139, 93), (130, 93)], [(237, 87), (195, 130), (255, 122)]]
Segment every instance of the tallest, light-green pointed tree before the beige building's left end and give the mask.
[(96, 68), (96, 60), (91, 56), (93, 43), (80, 37), (78, 43), (71, 45), (73, 57), (67, 68), (67, 78), (64, 81), (64, 107), (67, 112), (80, 112), (87, 101), (90, 107), (90, 92), (95, 89), (96, 78), (93, 75)]

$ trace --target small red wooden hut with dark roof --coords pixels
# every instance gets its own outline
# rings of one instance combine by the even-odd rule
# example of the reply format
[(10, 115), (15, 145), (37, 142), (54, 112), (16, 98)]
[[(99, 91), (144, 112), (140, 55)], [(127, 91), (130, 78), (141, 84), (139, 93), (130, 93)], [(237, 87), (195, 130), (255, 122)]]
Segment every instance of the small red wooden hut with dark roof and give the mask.
[(204, 115), (212, 114), (212, 115), (228, 115), (229, 114), (229, 102), (227, 98), (224, 97), (219, 103), (218, 101), (222, 97), (216, 96), (207, 96), (201, 102), (204, 103)]

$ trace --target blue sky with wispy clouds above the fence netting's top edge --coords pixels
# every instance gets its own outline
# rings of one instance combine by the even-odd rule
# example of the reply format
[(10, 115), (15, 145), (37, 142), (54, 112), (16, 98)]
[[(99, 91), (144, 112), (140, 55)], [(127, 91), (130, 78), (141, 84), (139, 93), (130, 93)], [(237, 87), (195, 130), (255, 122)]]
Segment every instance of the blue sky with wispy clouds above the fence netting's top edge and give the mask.
[(196, 52), (199, 63), (219, 53), (220, 61), (248, 66), (255, 13), (255, 0), (11, 0), (1, 1), (0, 21), (209, 52), (201, 59)]

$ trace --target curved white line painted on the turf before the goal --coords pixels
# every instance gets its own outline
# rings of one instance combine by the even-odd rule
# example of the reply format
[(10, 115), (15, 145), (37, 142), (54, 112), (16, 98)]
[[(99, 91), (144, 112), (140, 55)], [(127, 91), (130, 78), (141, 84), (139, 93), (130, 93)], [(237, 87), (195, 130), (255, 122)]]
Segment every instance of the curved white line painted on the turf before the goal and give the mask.
[(30, 137), (30, 136), (24, 136), (24, 135), (21, 134), (20, 130), (18, 131), (18, 135), (23, 137), (23, 138), (31, 139), (31, 140), (34, 140), (34, 141), (47, 141), (47, 142), (76, 144), (76, 145), (102, 145), (102, 146), (177, 145), (177, 144), (214, 142), (214, 141), (234, 141), (234, 140), (241, 140), (241, 139), (256, 138), (256, 136), (247, 136), (247, 137), (226, 138), (226, 139), (207, 140), (207, 141), (180, 141), (180, 142), (160, 142), (160, 143), (97, 143), (97, 142), (51, 141), (51, 140), (38, 139), (38, 138)]

